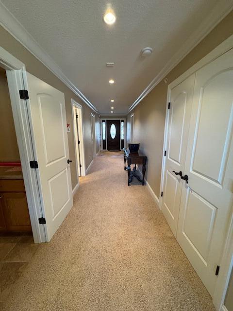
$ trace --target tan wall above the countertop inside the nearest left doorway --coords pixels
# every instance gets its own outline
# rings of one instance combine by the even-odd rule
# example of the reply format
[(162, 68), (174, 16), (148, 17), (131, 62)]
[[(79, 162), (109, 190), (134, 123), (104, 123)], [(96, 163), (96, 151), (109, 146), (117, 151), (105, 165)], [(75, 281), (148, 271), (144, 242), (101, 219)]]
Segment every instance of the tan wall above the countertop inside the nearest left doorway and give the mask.
[(16, 130), (4, 69), (0, 69), (0, 124), (0, 161), (19, 161)]

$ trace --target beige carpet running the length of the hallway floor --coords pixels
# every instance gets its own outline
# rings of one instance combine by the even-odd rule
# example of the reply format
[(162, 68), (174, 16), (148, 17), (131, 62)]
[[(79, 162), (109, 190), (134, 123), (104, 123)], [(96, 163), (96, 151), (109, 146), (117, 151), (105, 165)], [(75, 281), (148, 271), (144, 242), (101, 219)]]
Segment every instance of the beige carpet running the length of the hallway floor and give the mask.
[(101, 153), (74, 207), (4, 292), (1, 311), (214, 311), (147, 187)]

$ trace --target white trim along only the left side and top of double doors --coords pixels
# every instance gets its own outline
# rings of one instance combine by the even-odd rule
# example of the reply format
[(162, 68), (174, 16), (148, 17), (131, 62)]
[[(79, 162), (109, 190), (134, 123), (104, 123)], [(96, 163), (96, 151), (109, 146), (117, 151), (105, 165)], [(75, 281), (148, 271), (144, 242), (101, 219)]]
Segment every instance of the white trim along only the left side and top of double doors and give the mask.
[[(199, 62), (194, 64), (191, 68), (186, 70), (181, 76), (179, 76), (177, 79), (172, 81), (168, 87), (167, 87), (167, 99), (166, 99), (166, 119), (165, 119), (165, 128), (164, 128), (164, 145), (163, 145), (163, 155), (166, 150), (166, 143), (167, 143), (167, 130), (168, 130), (168, 119), (169, 119), (169, 109), (168, 103), (170, 100), (170, 92), (171, 89), (177, 86), (178, 84), (182, 83), (185, 79), (187, 79), (191, 74), (205, 66), (206, 64), (212, 62), (217, 57), (221, 56), (222, 54), (226, 53), (230, 49), (233, 48), (233, 35), (231, 35), (229, 38), (227, 38), (224, 42), (219, 44), (213, 51), (208, 53), (206, 56), (204, 56)], [(164, 170), (165, 170), (165, 162), (166, 157), (163, 156), (162, 159), (162, 170), (161, 170), (161, 182), (160, 182), (160, 208), (162, 206), (162, 197), (161, 192), (163, 191), (163, 183), (164, 183)]]

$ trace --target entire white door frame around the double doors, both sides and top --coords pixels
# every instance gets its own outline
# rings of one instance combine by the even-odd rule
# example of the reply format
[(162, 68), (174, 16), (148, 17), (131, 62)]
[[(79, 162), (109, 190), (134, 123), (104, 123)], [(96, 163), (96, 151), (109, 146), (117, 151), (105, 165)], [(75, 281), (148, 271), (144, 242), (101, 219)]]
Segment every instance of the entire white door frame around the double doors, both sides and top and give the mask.
[[(181, 76), (177, 79), (172, 81), (167, 87), (167, 98), (166, 98), (166, 119), (165, 119), (165, 126), (164, 126), (164, 143), (163, 143), (163, 150), (162, 150), (162, 169), (161, 169), (161, 181), (160, 181), (160, 193), (159, 193), (159, 208), (162, 208), (162, 191), (164, 188), (164, 175), (165, 175), (165, 163), (166, 163), (166, 145), (167, 145), (167, 134), (168, 134), (168, 121), (169, 121), (169, 108), (168, 104), (170, 102), (171, 90), (175, 86), (182, 83), (185, 79), (187, 79), (190, 75), (195, 73), (197, 70), (205, 66), (206, 64), (212, 62), (222, 54), (228, 52), (229, 50), (233, 49), (233, 35), (228, 37), (225, 41), (219, 44), (214, 50), (209, 52), (206, 56), (204, 56), (199, 62), (194, 64), (191, 68), (186, 70)], [(230, 229), (233, 230), (233, 218), (231, 219), (231, 223), (229, 224), (228, 228), (228, 235), (226, 237), (225, 245), (223, 245), (224, 250), (223, 256), (221, 259), (221, 267), (222, 269), (219, 270), (219, 275), (216, 281), (216, 288), (213, 295), (213, 302), (217, 310), (221, 310), (223, 301), (225, 299), (227, 286), (231, 274), (231, 269), (233, 267), (233, 255), (232, 253), (229, 254), (227, 249), (230, 248), (233, 251), (233, 234), (231, 235), (229, 232)]]

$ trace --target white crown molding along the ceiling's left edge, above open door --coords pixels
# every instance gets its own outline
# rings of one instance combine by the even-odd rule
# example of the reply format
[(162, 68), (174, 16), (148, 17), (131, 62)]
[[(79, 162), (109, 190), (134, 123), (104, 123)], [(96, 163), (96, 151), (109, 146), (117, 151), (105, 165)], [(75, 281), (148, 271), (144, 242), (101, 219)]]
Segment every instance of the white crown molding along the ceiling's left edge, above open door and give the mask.
[(63, 73), (62, 69), (53, 61), (50, 55), (34, 40), (33, 36), (22, 26), (14, 15), (0, 1), (0, 25), (5, 28), (19, 43), (31, 52), (43, 65), (55, 74), (72, 92), (92, 110), (98, 112), (96, 107), (83, 95)]

